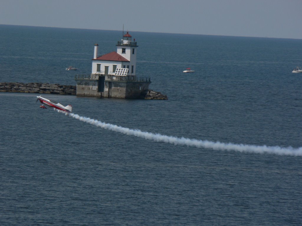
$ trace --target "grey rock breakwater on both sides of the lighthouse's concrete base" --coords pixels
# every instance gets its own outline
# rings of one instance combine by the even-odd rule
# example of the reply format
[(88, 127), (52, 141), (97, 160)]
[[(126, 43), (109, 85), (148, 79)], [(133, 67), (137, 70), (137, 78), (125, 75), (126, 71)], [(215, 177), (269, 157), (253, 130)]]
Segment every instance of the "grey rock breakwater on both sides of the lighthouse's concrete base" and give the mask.
[[(17, 93), (48, 93), (48, 94), (65, 94), (76, 95), (76, 86), (60, 85), (50, 83), (13, 83), (0, 82), (0, 92), (17, 92)], [(167, 100), (168, 97), (160, 92), (148, 89), (142, 93), (141, 99)]]

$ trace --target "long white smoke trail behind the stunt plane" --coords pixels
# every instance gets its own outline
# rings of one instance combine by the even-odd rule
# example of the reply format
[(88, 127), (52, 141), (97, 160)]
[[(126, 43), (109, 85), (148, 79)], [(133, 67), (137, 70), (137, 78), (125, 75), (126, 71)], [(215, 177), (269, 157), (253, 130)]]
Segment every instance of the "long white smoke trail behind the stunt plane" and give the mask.
[[(60, 111), (64, 112), (64, 111)], [(64, 112), (66, 113), (66, 112)], [(247, 144), (233, 144), (233, 143), (221, 143), (221, 142), (212, 142), (207, 140), (196, 140), (196, 139), (189, 139), (185, 137), (172, 137), (166, 136), (159, 133), (149, 133), (143, 132), (137, 129), (129, 129), (113, 124), (108, 124), (105, 122), (101, 122), (95, 119), (86, 118), (79, 116), (74, 113), (66, 113), (72, 118), (76, 118), (80, 121), (95, 125), (97, 127), (101, 127), (107, 130), (112, 130), (119, 133), (124, 133), (129, 136), (136, 136), (145, 138), (146, 140), (153, 140), (156, 142), (165, 142), (171, 143), (174, 145), (187, 145), (187, 146), (195, 146), (198, 148), (206, 148), (206, 149), (213, 149), (213, 150), (234, 150), (238, 152), (254, 152), (254, 153), (270, 153), (276, 155), (294, 155), (294, 156), (302, 156), (302, 147), (293, 148), (289, 147), (280, 147), (280, 146), (256, 146), (256, 145), (247, 145)]]

